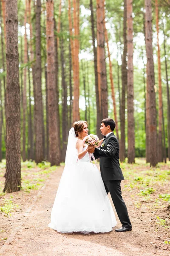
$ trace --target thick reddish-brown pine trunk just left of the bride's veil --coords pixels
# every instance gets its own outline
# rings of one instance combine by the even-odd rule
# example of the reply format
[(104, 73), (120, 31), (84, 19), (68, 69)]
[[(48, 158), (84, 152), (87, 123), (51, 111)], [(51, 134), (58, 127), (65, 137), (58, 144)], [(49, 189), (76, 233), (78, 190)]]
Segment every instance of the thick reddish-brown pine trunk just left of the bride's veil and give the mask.
[(58, 120), (55, 84), (55, 47), (54, 47), (54, 1), (46, 2), (47, 23), (47, 84), (48, 84), (48, 121), (49, 121), (49, 157), (51, 166), (59, 165)]

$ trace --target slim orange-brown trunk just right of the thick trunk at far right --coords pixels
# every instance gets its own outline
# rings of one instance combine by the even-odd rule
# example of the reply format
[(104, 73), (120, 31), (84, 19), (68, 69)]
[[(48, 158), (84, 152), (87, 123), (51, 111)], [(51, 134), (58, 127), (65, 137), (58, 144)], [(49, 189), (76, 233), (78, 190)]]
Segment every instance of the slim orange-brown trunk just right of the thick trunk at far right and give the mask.
[(161, 60), (159, 48), (159, 10), (158, 0), (156, 5), (156, 31), (157, 31), (157, 47), (158, 47), (158, 82), (159, 82), (159, 131), (158, 131), (158, 162), (163, 162), (163, 146), (162, 146), (162, 86), (161, 86)]

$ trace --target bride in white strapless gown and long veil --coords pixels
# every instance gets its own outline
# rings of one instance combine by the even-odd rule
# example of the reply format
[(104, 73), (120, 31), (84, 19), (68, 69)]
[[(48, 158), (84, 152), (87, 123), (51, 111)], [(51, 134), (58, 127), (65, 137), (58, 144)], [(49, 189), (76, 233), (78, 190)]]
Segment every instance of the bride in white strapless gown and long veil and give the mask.
[(86, 121), (74, 122), (69, 131), (65, 168), (48, 224), (60, 233), (105, 233), (117, 224), (100, 172), (82, 141), (88, 131)]

